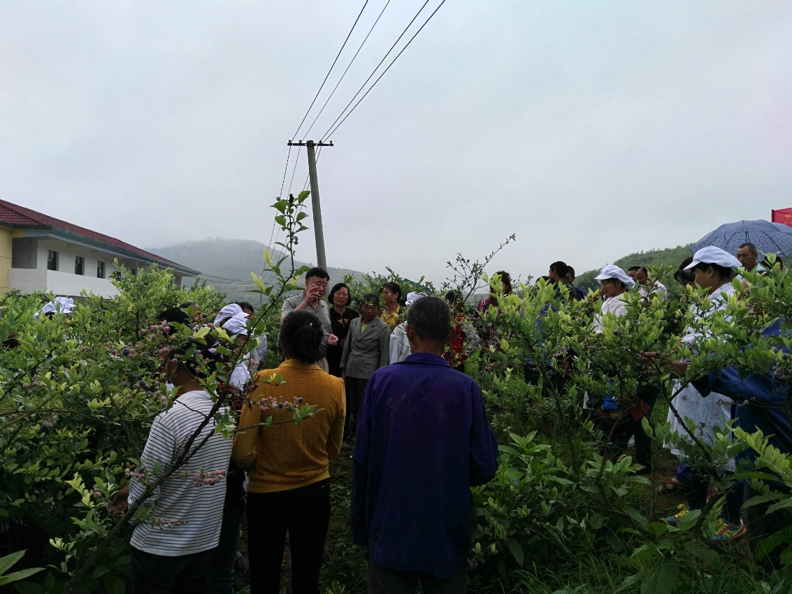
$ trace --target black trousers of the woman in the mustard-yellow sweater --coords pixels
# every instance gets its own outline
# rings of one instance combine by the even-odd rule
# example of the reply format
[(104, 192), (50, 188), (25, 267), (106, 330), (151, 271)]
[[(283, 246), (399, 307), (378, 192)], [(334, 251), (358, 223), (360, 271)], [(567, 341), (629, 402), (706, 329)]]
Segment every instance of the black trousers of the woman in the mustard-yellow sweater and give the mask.
[(329, 478), (299, 489), (248, 493), (251, 594), (278, 594), (286, 533), (291, 550), (291, 592), (318, 594), (319, 569), (330, 522)]

